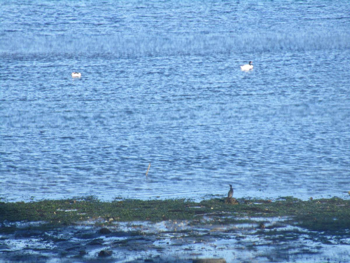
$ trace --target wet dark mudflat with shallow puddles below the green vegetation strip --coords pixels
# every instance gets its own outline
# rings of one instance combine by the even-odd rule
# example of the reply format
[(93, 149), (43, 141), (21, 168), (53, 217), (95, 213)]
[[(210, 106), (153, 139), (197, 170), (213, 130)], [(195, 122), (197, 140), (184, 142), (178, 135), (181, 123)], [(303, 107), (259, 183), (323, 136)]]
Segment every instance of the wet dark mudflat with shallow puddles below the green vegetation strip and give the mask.
[[(280, 218), (275, 218), (272, 229), (266, 230), (259, 230), (254, 224), (218, 223), (196, 228), (188, 226), (188, 222), (166, 221), (116, 223), (108, 228), (109, 234), (100, 234), (101, 227), (84, 223), (87, 225), (47, 232), (18, 230), (15, 234), (2, 235), (0, 259), (192, 262), (196, 258), (226, 258), (228, 262), (346, 262), (349, 258), (350, 238), (329, 239), (330, 243), (324, 244), (317, 232), (291, 227)], [(110, 251), (111, 255), (98, 256), (102, 250)]]

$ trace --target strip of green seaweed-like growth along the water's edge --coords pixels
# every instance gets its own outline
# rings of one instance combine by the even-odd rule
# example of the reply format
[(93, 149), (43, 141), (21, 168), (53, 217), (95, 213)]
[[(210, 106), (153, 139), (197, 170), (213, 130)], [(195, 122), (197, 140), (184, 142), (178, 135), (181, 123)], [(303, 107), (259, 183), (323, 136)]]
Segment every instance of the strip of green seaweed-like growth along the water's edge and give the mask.
[(236, 222), (242, 217), (249, 217), (249, 222), (252, 222), (258, 217), (288, 216), (289, 224), (309, 230), (350, 229), (350, 201), (337, 197), (308, 201), (293, 197), (281, 197), (274, 201), (241, 198), (235, 205), (225, 200), (225, 198), (212, 198), (201, 202), (184, 199), (104, 202), (93, 197), (85, 197), (0, 202), (0, 222), (45, 221), (57, 226), (72, 225), (77, 221), (99, 217), (105, 218), (107, 222), (189, 220), (200, 224), (204, 221), (204, 217), (209, 215), (212, 220), (218, 220), (223, 224)]

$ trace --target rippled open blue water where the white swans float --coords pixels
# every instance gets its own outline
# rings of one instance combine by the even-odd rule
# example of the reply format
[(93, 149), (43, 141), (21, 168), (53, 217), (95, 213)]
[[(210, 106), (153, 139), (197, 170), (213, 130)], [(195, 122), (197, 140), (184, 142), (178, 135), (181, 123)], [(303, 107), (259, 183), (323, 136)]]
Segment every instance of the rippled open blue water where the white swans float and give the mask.
[(2, 1), (1, 196), (347, 196), (349, 10)]

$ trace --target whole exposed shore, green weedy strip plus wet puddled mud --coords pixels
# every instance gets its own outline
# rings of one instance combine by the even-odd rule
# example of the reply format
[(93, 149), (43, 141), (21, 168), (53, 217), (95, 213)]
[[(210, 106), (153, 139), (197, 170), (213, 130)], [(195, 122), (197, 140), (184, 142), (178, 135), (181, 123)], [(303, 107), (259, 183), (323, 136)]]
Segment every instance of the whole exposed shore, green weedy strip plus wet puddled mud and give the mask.
[(2, 200), (0, 260), (341, 262), (350, 256), (350, 200), (234, 201)]

